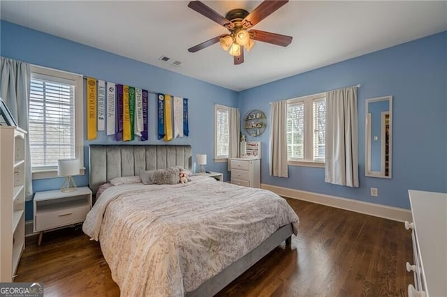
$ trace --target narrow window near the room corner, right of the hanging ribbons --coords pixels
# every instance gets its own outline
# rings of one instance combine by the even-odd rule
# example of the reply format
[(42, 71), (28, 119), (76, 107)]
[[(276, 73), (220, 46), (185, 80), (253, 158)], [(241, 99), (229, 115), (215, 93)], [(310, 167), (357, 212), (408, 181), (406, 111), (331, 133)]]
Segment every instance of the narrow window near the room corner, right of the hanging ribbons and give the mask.
[(214, 105), (214, 159), (227, 159), (230, 145), (230, 107)]

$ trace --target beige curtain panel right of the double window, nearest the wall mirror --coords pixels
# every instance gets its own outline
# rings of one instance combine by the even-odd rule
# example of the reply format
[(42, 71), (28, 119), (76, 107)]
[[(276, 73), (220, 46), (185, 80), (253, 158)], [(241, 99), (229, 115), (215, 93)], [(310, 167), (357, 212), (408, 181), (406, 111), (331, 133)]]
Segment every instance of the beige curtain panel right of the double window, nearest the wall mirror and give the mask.
[(358, 187), (357, 87), (326, 95), (326, 183)]

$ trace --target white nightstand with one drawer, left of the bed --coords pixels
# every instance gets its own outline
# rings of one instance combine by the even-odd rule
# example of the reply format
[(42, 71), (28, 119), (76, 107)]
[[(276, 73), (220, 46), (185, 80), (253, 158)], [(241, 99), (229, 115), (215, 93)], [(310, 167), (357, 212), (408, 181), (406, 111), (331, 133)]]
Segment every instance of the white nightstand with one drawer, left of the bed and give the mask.
[(43, 231), (84, 222), (90, 209), (91, 190), (88, 187), (81, 187), (72, 192), (36, 192), (34, 232), (41, 232), (38, 245), (41, 245)]

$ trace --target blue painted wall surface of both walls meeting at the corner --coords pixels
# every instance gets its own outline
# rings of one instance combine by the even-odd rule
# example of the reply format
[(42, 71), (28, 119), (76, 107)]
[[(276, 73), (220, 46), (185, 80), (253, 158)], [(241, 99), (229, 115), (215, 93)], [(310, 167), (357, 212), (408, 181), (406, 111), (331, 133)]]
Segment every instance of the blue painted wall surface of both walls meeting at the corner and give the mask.
[[(206, 153), (207, 169), (223, 172), (226, 180), (226, 163), (212, 162), (214, 103), (240, 107), (242, 116), (249, 109), (261, 109), (270, 119), (269, 102), (274, 100), (362, 84), (358, 89), (359, 188), (324, 183), (321, 168), (289, 166), (289, 178), (269, 176), (269, 125), (260, 137), (247, 137), (263, 144), (262, 183), (403, 208), (409, 208), (408, 189), (447, 191), (447, 32), (235, 93), (9, 22), (1, 21), (0, 30), (1, 56), (189, 98), (190, 136), (170, 144), (191, 144), (193, 153)], [(365, 99), (388, 95), (393, 96), (393, 178), (366, 178)], [(156, 140), (155, 127), (152, 95), (149, 141), (135, 143), (165, 144)], [(88, 145), (109, 143), (117, 142), (104, 132), (98, 132), (94, 141), (85, 141), (86, 167)], [(87, 175), (76, 180), (78, 185), (88, 184)], [(34, 181), (34, 191), (56, 189), (61, 182), (61, 178)], [(370, 187), (379, 188), (378, 198), (369, 196)], [(27, 220), (32, 219), (29, 205)]]

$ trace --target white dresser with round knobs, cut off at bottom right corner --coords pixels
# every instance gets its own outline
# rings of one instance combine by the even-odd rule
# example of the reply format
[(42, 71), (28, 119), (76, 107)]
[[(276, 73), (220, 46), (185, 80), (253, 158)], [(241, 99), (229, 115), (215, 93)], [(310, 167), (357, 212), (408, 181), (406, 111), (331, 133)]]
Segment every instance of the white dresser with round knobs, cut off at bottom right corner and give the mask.
[(447, 193), (409, 190), (413, 222), (405, 222), (413, 229), (413, 263), (406, 263), (413, 271), (414, 286), (409, 284), (409, 297), (447, 296)]

